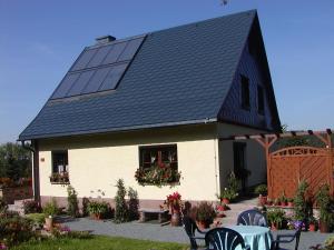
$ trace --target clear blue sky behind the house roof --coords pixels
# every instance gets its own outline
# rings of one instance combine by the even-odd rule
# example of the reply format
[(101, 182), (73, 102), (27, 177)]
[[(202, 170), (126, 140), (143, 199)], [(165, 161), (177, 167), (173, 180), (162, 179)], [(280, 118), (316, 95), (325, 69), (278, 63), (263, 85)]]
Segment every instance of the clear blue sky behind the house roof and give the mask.
[(249, 9), (258, 10), (282, 122), (334, 128), (333, 0), (0, 0), (0, 142), (17, 140), (96, 37)]

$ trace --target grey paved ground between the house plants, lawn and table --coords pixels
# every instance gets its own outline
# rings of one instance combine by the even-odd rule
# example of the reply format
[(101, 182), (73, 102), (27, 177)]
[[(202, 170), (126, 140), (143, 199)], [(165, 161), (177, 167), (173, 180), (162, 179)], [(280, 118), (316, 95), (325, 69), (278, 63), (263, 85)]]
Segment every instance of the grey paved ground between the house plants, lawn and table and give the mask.
[[(137, 221), (116, 224), (111, 220), (95, 221), (88, 218), (69, 219), (65, 221), (72, 230), (90, 230), (94, 234), (117, 236), (134, 239), (146, 239), (154, 241), (189, 243), (183, 227), (160, 226), (157, 223), (140, 223)], [(278, 233), (286, 231), (278, 231)], [(274, 232), (274, 237), (277, 232)], [(324, 243), (325, 239), (334, 233), (302, 232), (299, 248), (310, 249), (311, 246)], [(282, 246), (283, 247), (283, 246)], [(285, 248), (293, 249), (293, 244), (285, 244)]]

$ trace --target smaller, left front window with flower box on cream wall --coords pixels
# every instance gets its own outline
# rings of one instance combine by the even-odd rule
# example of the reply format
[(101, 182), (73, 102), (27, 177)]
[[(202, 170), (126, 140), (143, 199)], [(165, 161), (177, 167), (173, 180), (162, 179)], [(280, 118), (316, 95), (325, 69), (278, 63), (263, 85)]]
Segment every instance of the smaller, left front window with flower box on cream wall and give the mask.
[(69, 182), (67, 151), (52, 151), (52, 173), (50, 181), (61, 183)]

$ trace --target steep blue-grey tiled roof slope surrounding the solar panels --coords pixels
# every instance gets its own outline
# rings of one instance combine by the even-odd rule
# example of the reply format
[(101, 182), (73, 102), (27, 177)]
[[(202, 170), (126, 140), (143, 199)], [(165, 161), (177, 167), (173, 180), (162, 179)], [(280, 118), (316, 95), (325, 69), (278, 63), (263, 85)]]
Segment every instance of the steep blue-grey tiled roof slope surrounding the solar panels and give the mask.
[(48, 100), (19, 140), (216, 121), (255, 18), (148, 33), (116, 90)]

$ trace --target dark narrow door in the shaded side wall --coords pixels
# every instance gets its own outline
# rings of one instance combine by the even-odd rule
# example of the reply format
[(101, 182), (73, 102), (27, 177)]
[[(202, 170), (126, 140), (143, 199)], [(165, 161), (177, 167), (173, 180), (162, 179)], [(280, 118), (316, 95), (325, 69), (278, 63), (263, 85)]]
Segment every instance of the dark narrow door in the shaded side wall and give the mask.
[(246, 143), (234, 142), (233, 143), (234, 154), (234, 172), (238, 180), (242, 181), (242, 191), (246, 191), (247, 182), (247, 169), (246, 169)]

